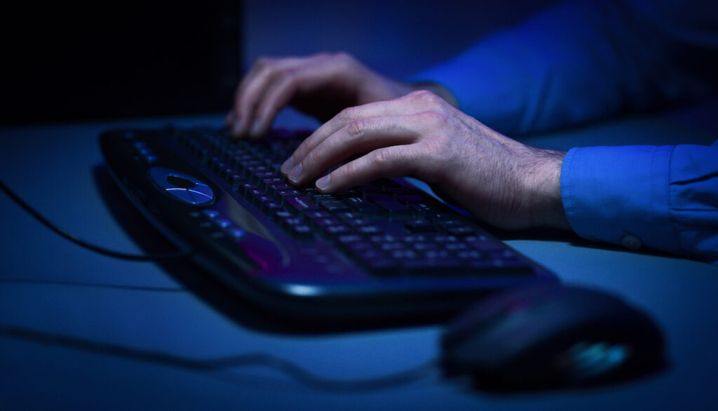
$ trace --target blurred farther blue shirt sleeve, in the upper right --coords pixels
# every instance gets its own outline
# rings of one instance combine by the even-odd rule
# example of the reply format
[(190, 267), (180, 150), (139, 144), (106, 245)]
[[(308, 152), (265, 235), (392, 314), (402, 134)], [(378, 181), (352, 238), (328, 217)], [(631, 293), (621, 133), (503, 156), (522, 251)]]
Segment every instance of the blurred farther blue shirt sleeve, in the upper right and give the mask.
[(447, 88), (508, 135), (695, 101), (718, 90), (718, 7), (579, 0), (496, 32), (410, 80)]

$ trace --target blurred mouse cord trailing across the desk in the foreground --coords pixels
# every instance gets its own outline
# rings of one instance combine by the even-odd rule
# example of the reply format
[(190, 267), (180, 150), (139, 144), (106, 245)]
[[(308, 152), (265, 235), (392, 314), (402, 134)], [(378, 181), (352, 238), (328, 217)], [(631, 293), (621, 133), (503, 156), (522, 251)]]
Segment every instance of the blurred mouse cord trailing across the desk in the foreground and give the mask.
[(190, 371), (227, 371), (240, 367), (264, 366), (276, 369), (295, 381), (309, 387), (326, 391), (358, 392), (398, 387), (423, 379), (437, 369), (437, 360), (432, 360), (416, 366), (413, 369), (398, 371), (381, 377), (367, 379), (329, 379), (317, 376), (317, 374), (307, 371), (307, 369), (294, 364), (292, 361), (265, 353), (240, 354), (215, 359), (191, 359), (183, 356), (164, 354), (158, 351), (147, 351), (111, 343), (89, 341), (73, 336), (44, 333), (42, 331), (34, 331), (13, 325), (0, 325), (0, 334), (37, 343), (75, 348), (80, 351), (90, 351), (137, 361), (174, 366)]

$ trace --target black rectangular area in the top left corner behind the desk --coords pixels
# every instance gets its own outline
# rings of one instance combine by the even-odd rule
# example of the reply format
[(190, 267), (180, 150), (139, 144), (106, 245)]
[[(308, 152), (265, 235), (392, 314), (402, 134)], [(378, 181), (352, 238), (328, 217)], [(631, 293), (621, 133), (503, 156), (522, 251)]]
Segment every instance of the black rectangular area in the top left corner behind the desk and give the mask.
[(238, 1), (24, 2), (3, 14), (2, 124), (218, 111), (239, 78)]

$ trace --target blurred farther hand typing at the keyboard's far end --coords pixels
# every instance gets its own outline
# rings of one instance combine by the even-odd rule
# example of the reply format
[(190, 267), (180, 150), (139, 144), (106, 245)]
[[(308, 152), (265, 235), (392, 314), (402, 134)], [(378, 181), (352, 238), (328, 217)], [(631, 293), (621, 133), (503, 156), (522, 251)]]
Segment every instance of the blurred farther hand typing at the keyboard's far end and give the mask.
[(412, 90), (346, 53), (262, 57), (239, 83), (225, 124), (234, 137), (259, 138), (288, 104), (326, 121), (343, 108), (391, 100)]

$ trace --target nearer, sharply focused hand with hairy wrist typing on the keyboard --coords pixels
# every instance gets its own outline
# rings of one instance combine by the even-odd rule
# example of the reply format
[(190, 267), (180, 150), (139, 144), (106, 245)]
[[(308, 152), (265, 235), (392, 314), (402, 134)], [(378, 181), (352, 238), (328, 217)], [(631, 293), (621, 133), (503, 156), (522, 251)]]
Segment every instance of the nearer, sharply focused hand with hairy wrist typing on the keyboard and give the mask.
[(570, 228), (561, 203), (564, 154), (499, 134), (429, 91), (346, 108), (307, 137), (281, 171), (337, 193), (411, 176), (501, 228)]

